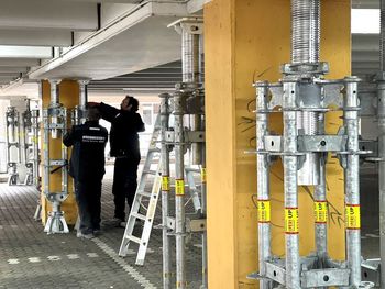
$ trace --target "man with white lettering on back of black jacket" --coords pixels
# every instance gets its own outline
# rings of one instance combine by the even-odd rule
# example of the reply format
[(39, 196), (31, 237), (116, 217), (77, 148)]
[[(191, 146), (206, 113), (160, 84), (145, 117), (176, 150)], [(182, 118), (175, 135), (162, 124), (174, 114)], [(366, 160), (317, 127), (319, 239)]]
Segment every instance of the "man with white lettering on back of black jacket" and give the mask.
[(101, 180), (105, 170), (107, 130), (99, 125), (97, 108), (88, 109), (88, 121), (74, 125), (63, 137), (66, 146), (74, 146), (69, 175), (74, 178), (75, 196), (79, 209), (78, 237), (91, 238), (100, 231)]

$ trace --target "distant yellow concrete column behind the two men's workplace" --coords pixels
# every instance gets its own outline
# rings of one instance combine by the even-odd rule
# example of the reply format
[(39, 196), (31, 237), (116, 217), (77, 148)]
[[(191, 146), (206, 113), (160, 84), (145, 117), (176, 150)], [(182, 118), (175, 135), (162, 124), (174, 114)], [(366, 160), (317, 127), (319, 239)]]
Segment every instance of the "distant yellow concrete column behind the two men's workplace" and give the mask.
[[(67, 110), (74, 109), (75, 105), (79, 103), (79, 85), (76, 80), (63, 80), (58, 86), (58, 96), (59, 102), (67, 108)], [(43, 109), (46, 109), (50, 105), (51, 100), (51, 85), (47, 80), (42, 81), (42, 103)], [(68, 114), (69, 115), (69, 114)], [(70, 120), (68, 119), (68, 126), (70, 125)], [(43, 133), (43, 132), (42, 132)], [(43, 134), (42, 134), (43, 135)], [(41, 137), (43, 140), (43, 137)], [(50, 157), (54, 159), (61, 158), (61, 149), (62, 149), (62, 140), (51, 140), (50, 141)], [(43, 145), (41, 145), (43, 147)], [(70, 149), (68, 149), (68, 157), (70, 156)], [(42, 159), (41, 164), (44, 164), (44, 159)], [(65, 168), (67, 169), (67, 168)], [(42, 170), (44, 174), (44, 169)], [(44, 176), (42, 176), (42, 180), (44, 181)], [(50, 179), (51, 190), (52, 191), (61, 191), (62, 184), (62, 170), (57, 170), (51, 175)], [(42, 184), (42, 188), (44, 188), (44, 184)], [(63, 202), (62, 210), (64, 211), (64, 216), (68, 225), (74, 225), (77, 219), (77, 204), (75, 201), (75, 194), (73, 190), (73, 178), (68, 177), (68, 198)], [(45, 224), (47, 219), (47, 213), (51, 211), (51, 204), (45, 199), (44, 193), (41, 197), (42, 202), (42, 221)]]

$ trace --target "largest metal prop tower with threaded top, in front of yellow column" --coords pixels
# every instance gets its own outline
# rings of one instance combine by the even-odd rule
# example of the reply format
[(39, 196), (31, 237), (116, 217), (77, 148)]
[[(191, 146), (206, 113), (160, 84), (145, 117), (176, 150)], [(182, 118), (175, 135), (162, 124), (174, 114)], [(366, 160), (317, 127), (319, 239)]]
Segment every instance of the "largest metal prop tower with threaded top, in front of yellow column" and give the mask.
[[(258, 267), (250, 276), (261, 288), (346, 287), (370, 288), (361, 277), (361, 220), (359, 160), (359, 93), (356, 77), (326, 80), (327, 63), (319, 62), (320, 0), (292, 0), (292, 63), (282, 66), (277, 84), (255, 82)], [(337, 135), (326, 134), (324, 116), (337, 107), (343, 126)], [(279, 108), (279, 109), (278, 109)], [(283, 113), (283, 135), (268, 130), (268, 114)], [(328, 203), (326, 163), (337, 154), (344, 168), (346, 260), (328, 255)], [(278, 258), (271, 251), (270, 166), (273, 156), (284, 165), (285, 248)], [(298, 186), (315, 188), (316, 252), (299, 255)]]

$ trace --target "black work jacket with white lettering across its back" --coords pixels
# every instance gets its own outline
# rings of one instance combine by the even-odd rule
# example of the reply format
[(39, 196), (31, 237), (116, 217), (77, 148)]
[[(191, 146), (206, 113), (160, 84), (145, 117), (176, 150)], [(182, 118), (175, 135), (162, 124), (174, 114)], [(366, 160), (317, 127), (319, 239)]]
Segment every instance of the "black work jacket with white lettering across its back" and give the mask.
[(76, 181), (102, 179), (105, 170), (105, 148), (108, 138), (106, 127), (97, 121), (74, 125), (63, 137), (66, 146), (74, 146), (69, 160), (69, 175)]

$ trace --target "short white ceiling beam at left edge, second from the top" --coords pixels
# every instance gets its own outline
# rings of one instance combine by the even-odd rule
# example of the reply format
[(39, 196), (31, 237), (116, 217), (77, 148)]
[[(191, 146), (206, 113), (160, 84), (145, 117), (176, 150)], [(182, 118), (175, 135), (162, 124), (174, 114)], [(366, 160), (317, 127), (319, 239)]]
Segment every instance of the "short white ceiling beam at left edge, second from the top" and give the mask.
[(0, 27), (0, 43), (2, 45), (67, 47), (73, 45), (73, 33), (68, 30), (2, 30)]

